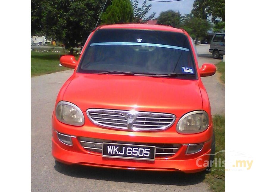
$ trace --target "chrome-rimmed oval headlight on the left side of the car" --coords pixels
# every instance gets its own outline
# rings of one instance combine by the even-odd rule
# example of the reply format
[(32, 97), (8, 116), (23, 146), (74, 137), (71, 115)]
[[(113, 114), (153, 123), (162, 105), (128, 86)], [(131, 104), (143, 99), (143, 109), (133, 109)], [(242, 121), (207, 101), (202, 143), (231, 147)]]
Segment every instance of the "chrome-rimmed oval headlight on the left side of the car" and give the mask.
[(73, 103), (60, 101), (55, 110), (57, 119), (65, 124), (82, 126), (85, 123), (84, 115)]

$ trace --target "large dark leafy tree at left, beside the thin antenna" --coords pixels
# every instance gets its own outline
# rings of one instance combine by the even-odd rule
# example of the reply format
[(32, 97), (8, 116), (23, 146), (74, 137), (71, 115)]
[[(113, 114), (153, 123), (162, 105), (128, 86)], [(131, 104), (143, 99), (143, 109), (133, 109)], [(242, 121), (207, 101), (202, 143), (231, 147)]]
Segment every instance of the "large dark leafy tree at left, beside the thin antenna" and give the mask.
[(61, 41), (73, 54), (73, 47), (95, 27), (104, 3), (105, 0), (42, 0), (42, 31)]

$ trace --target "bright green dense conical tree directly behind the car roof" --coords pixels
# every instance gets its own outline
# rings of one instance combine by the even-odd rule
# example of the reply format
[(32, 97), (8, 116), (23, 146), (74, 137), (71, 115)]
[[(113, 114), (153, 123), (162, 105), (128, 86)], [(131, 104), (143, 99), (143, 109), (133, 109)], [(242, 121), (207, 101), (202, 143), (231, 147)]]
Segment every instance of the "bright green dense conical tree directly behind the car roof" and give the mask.
[(129, 0), (112, 0), (112, 4), (102, 14), (104, 24), (131, 23), (132, 19), (133, 9)]

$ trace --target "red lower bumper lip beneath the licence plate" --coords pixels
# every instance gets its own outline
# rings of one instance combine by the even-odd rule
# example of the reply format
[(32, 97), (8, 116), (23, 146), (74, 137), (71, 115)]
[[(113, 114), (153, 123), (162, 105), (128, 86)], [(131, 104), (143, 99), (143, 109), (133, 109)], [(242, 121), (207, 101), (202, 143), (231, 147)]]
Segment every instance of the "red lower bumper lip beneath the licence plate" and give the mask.
[[(200, 155), (202, 161), (209, 160), (209, 155), (204, 155), (209, 153), (210, 149), (205, 150), (204, 153)], [(104, 158), (101, 155), (97, 156), (94, 155), (93, 153), (81, 153), (77, 151), (70, 151), (64, 149), (63, 146), (60, 146), (56, 141), (54, 141), (54, 139), (52, 139), (52, 155), (57, 161), (65, 164), (79, 164), (103, 168), (133, 169), (147, 171), (182, 171), (185, 173), (194, 173), (203, 171), (205, 169), (205, 167), (196, 166), (196, 160), (199, 157), (177, 160), (156, 159), (155, 161)]]

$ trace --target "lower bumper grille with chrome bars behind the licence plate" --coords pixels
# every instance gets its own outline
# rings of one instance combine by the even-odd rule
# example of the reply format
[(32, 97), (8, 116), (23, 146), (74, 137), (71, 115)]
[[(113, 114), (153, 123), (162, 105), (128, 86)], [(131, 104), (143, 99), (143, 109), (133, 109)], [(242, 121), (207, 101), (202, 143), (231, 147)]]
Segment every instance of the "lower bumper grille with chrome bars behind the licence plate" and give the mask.
[(137, 142), (125, 142), (125, 141), (112, 141), (105, 139), (95, 139), (87, 137), (78, 137), (78, 140), (82, 147), (91, 152), (102, 153), (102, 143), (119, 143), (119, 144), (132, 144), (132, 145), (146, 145), (156, 147), (156, 157), (171, 157), (181, 147), (181, 144), (170, 143), (137, 143)]

